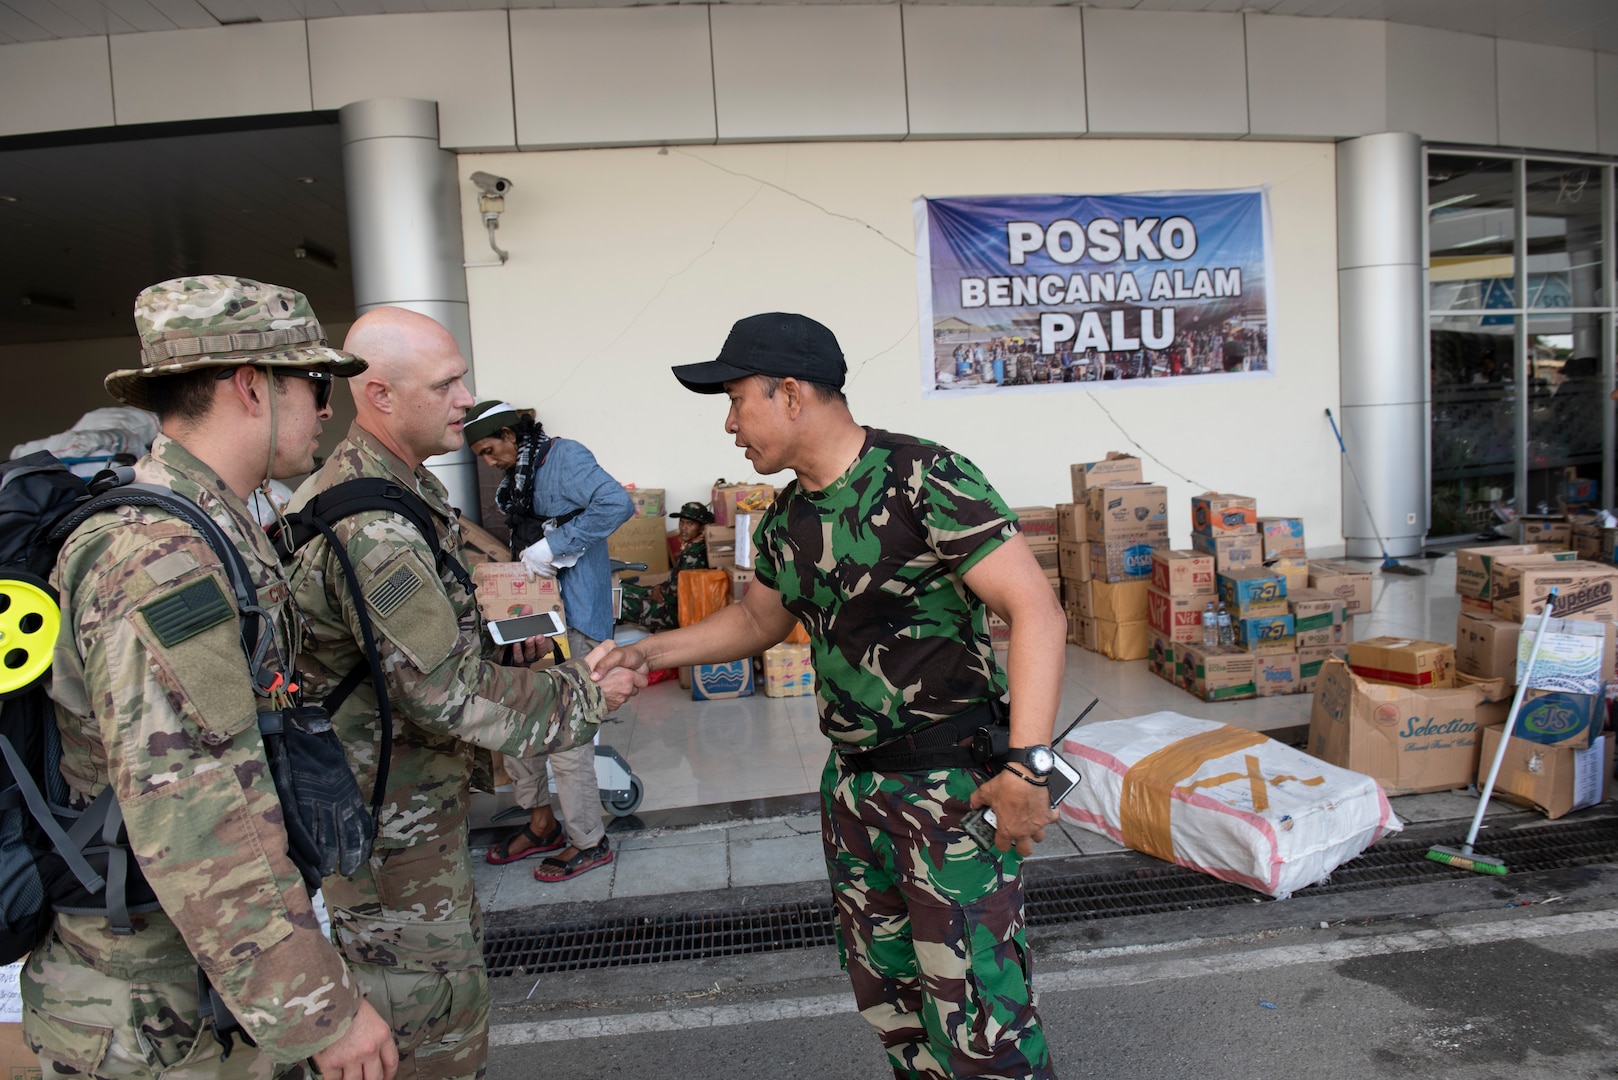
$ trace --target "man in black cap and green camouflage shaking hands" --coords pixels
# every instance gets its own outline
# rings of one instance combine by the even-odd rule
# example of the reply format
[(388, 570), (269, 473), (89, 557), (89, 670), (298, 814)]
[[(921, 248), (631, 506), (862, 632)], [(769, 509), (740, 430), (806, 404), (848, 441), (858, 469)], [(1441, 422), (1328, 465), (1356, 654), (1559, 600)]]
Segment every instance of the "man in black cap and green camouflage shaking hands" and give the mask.
[[(796, 479), (759, 521), (757, 580), (739, 604), (621, 648), (597, 675), (752, 656), (801, 620), (833, 743), (820, 800), (840, 952), (893, 1075), (1053, 1077), (1019, 878), (1057, 818), (1045, 782), (1011, 764), (1018, 753), (992, 777), (927, 759), (971, 761), (956, 737), (995, 717), (1006, 690), (1010, 745), (1029, 758), (1050, 742), (1061, 609), (982, 473), (861, 427), (845, 372), (832, 332), (793, 314), (743, 319), (718, 359), (675, 368), (688, 389), (730, 397), (725, 431), (759, 474)], [(1011, 623), (1010, 678), (985, 606)], [(972, 806), (993, 808), (997, 850), (963, 831)]]

